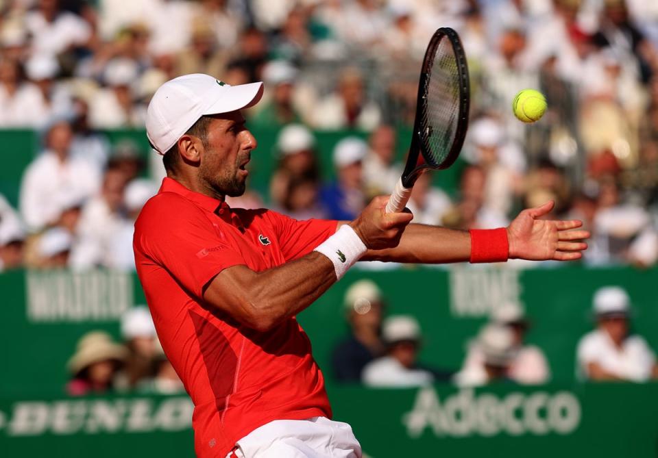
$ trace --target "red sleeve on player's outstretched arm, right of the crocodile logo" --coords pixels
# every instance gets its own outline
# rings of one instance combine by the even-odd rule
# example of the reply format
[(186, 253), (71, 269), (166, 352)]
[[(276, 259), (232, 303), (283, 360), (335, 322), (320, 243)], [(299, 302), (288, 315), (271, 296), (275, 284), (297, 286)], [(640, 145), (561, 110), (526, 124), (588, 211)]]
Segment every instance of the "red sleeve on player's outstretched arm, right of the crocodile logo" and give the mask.
[(277, 212), (265, 212), (265, 218), (276, 230), (281, 252), (286, 261), (308, 255), (316, 246), (334, 235), (336, 220), (295, 220)]

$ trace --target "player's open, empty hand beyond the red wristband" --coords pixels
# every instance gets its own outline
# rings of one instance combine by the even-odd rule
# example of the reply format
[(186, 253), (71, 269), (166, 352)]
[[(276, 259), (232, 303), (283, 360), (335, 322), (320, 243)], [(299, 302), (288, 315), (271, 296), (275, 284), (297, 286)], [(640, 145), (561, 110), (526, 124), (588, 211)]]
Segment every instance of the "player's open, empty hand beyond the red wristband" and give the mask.
[(589, 231), (572, 230), (581, 227), (582, 221), (537, 219), (548, 214), (554, 205), (548, 201), (525, 209), (511, 222), (507, 227), (510, 259), (572, 261), (583, 257), (587, 244), (582, 240), (589, 238)]

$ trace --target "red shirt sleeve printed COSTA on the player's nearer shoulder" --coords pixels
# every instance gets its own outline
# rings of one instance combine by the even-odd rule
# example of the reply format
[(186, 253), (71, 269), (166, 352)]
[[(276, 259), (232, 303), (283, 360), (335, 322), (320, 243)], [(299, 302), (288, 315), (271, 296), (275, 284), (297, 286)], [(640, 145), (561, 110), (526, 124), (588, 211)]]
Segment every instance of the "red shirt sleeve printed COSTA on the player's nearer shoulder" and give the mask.
[(135, 223), (134, 250), (145, 256), (145, 262), (165, 268), (197, 298), (223, 269), (246, 264), (202, 209), (169, 193), (142, 209)]

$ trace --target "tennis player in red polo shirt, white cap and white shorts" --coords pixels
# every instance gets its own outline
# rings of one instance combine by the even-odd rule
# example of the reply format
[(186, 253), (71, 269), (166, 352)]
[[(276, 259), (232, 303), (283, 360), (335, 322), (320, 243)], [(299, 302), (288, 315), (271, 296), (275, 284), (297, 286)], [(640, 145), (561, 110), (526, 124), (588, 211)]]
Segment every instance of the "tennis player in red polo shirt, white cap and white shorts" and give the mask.
[(241, 109), (263, 84), (208, 75), (162, 85), (147, 136), (167, 177), (135, 224), (137, 272), (164, 352), (190, 394), (199, 457), (361, 457), (348, 424), (331, 420), (324, 379), (295, 316), (359, 259), (493, 262), (578, 259), (578, 221), (538, 219), (453, 231), (410, 225), (374, 199), (351, 222), (297, 221), (268, 209), (232, 209), (245, 191), (256, 139)]

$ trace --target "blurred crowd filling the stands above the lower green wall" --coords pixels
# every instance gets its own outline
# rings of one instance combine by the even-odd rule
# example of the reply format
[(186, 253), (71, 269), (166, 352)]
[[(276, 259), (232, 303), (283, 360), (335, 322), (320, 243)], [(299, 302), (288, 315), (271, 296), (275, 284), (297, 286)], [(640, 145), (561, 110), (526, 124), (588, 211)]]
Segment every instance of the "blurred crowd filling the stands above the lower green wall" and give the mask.
[[(441, 26), (459, 31), (467, 52), (470, 129), (459, 184), (441, 190), (421, 177), (415, 220), (500, 227), (552, 199), (549, 217), (592, 231), (585, 262), (655, 264), (653, 0), (14, 0), (0, 1), (0, 128), (35, 129), (42, 147), (18, 208), (0, 194), (0, 270), (133, 268), (132, 221), (163, 171), (103, 131), (143, 128), (154, 91), (186, 73), (265, 81), (247, 125), (277, 131), (276, 145), (260, 148), (276, 149), (278, 164), (267, 194), (230, 205), (353, 218), (400, 174), (398, 137)], [(511, 113), (523, 88), (548, 99), (535, 125)], [(320, 130), (345, 132), (330, 161)]]

